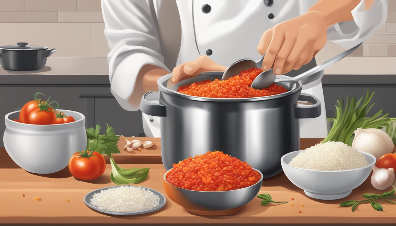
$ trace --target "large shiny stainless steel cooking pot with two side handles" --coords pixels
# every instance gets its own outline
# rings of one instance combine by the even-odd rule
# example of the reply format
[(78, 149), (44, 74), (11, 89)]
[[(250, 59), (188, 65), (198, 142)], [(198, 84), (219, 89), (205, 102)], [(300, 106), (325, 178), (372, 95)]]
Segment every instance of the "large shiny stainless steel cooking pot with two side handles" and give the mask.
[[(142, 97), (143, 113), (163, 117), (164, 167), (171, 169), (173, 163), (189, 156), (220, 150), (247, 161), (264, 178), (278, 174), (282, 171), (280, 158), (300, 148), (299, 118), (320, 116), (320, 101), (301, 93), (301, 82), (286, 93), (268, 97), (224, 99), (177, 92), (180, 85), (221, 79), (222, 74), (205, 72), (175, 85), (168, 82), (168, 74), (158, 79), (159, 92), (148, 92)], [(297, 100), (312, 105), (297, 106)]]

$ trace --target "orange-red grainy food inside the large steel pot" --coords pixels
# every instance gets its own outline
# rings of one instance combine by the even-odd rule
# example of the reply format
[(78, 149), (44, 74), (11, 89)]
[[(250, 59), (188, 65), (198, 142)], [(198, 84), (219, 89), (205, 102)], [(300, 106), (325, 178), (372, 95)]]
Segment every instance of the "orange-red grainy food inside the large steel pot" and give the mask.
[(260, 68), (250, 68), (224, 81), (219, 79), (211, 81), (208, 79), (202, 82), (180, 86), (177, 91), (190, 96), (212, 98), (265, 97), (287, 92), (287, 89), (275, 83), (264, 89), (250, 87), (253, 80), (261, 72), (263, 70)]

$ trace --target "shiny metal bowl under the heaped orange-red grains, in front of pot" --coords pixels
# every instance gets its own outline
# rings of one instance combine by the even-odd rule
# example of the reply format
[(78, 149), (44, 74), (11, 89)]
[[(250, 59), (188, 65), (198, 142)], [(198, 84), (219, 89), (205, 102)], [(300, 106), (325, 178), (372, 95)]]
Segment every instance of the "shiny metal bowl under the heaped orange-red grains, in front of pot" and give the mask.
[(236, 213), (259, 193), (263, 184), (263, 174), (253, 168), (253, 170), (260, 173), (261, 178), (257, 183), (249, 187), (219, 192), (194, 191), (169, 184), (166, 181), (166, 175), (171, 170), (169, 169), (164, 175), (166, 194), (175, 203), (199, 215), (228, 215)]

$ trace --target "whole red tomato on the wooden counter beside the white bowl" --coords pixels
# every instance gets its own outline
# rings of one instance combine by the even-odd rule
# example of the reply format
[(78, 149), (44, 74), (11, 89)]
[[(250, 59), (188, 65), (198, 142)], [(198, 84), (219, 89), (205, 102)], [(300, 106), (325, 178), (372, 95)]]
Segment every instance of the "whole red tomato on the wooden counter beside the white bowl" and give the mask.
[(98, 152), (77, 152), (69, 160), (70, 173), (81, 180), (97, 179), (105, 172), (105, 169), (106, 160)]

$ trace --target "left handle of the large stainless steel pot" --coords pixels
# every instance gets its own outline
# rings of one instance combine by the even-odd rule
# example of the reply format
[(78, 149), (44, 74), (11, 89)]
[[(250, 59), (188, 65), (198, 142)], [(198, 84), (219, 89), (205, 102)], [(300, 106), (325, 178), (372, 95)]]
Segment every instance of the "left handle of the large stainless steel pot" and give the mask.
[(140, 110), (151, 116), (166, 116), (166, 106), (163, 104), (153, 103), (151, 101), (158, 101), (160, 99), (160, 92), (147, 92), (142, 97), (140, 102)]

